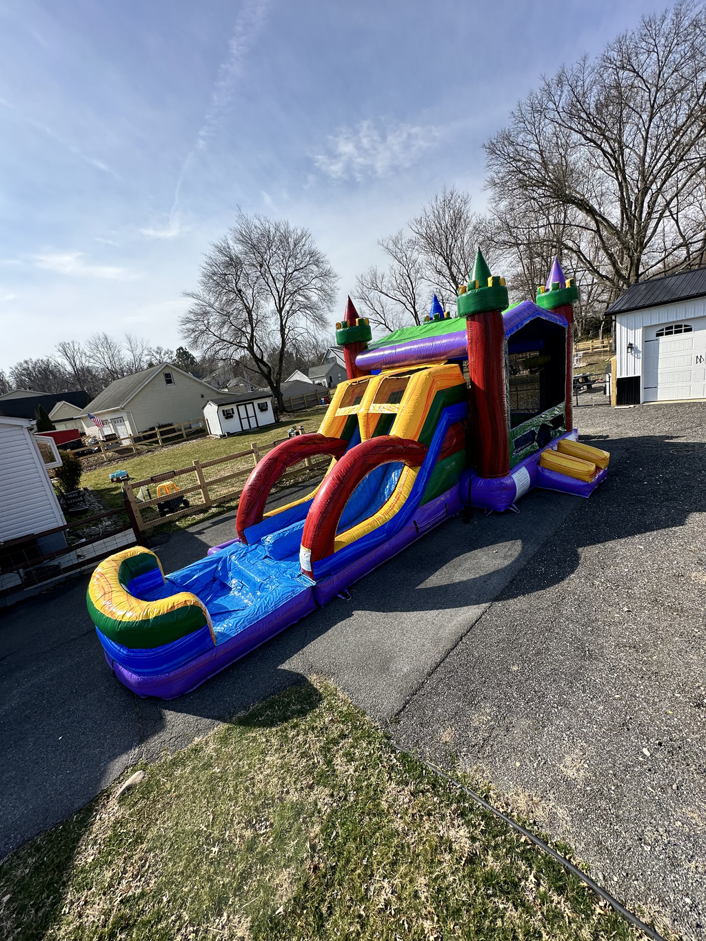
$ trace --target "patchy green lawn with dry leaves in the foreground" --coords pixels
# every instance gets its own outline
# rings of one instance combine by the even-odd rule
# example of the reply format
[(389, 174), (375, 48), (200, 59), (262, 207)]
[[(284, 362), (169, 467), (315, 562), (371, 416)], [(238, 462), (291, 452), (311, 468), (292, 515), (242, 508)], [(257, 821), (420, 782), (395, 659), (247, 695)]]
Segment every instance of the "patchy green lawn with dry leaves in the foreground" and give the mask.
[(0, 866), (0, 937), (642, 936), (328, 683), (145, 770)]

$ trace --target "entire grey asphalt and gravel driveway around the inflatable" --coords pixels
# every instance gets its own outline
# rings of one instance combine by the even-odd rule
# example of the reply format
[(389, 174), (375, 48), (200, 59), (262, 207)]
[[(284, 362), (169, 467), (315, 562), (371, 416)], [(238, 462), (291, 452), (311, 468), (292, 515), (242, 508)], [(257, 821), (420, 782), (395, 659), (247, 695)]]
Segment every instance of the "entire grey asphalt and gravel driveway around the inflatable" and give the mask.
[[(591, 500), (534, 491), (519, 515), (449, 520), (350, 600), (169, 703), (110, 675), (87, 579), (9, 609), (0, 855), (136, 760), (323, 674), (401, 744), (514, 792), (624, 901), (698, 932), (706, 406), (586, 408), (577, 421), (622, 455)], [(231, 538), (233, 522), (174, 534), (156, 549), (165, 569)]]

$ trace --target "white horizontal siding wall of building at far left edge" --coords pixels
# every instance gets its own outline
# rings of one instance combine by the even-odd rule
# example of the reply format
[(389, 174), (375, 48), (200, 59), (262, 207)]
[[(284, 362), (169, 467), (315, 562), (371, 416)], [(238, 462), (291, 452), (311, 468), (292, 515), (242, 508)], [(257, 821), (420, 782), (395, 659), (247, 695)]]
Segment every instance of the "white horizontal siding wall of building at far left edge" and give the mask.
[(29, 431), (0, 422), (0, 542), (65, 522)]

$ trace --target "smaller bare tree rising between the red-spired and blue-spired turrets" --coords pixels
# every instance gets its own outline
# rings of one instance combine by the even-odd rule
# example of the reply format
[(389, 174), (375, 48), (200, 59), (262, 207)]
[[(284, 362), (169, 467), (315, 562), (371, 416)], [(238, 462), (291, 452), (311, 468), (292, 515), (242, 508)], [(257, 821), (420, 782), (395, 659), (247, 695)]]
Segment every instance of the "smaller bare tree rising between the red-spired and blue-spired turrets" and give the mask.
[(419, 243), (400, 229), (377, 243), (390, 259), (387, 271), (373, 265), (356, 279), (355, 298), (372, 324), (396, 330), (409, 320), (422, 322), (428, 295)]

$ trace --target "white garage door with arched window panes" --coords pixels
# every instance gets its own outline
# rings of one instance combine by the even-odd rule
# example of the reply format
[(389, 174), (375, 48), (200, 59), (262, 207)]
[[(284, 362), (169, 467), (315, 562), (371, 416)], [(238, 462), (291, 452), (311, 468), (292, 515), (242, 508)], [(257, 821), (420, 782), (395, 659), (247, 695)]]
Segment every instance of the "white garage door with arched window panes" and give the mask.
[(706, 398), (706, 317), (645, 327), (643, 401)]

